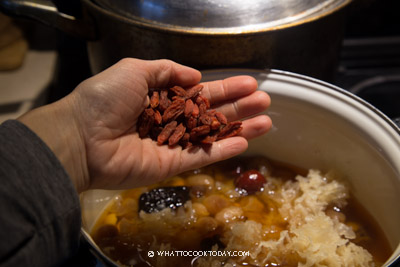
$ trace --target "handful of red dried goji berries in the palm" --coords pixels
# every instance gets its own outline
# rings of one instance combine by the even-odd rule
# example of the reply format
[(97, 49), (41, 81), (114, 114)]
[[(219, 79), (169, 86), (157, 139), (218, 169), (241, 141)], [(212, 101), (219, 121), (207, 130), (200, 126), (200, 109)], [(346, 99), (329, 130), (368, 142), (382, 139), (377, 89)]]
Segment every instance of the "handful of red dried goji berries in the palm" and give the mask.
[(138, 121), (140, 138), (187, 148), (237, 135), (242, 122), (228, 122), (221, 112), (210, 109), (209, 100), (200, 94), (202, 89), (198, 84), (188, 89), (149, 90), (150, 104)]

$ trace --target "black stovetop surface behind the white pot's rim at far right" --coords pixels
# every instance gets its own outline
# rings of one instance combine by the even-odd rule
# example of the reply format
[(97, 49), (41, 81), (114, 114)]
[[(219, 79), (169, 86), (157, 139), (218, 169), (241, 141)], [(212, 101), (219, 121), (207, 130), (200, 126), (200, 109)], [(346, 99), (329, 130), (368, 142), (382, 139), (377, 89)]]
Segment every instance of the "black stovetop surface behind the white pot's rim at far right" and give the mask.
[(400, 36), (344, 40), (333, 83), (400, 118)]

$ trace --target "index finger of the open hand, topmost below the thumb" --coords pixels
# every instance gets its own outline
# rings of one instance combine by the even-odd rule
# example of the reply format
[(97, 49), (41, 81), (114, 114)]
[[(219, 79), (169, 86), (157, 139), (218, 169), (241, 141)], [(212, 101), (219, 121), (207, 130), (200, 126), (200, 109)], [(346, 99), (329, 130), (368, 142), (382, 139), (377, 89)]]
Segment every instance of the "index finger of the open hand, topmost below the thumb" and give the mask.
[(249, 95), (257, 90), (257, 81), (251, 76), (235, 76), (225, 80), (204, 83), (203, 96), (212, 105)]

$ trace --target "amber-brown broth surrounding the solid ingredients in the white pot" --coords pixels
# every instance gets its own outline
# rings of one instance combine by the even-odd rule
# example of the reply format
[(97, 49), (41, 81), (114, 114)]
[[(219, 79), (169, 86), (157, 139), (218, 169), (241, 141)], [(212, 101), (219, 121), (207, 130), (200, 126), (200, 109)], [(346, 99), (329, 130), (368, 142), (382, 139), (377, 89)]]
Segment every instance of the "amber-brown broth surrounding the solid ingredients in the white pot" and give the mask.
[[(249, 189), (246, 191), (236, 186), (238, 176), (248, 170), (257, 170), (267, 179), (257, 192), (249, 193)], [(208, 266), (215, 257), (198, 259), (182, 257), (182, 254), (149, 257), (147, 251), (223, 251), (232, 247), (238, 250), (240, 246), (233, 244), (237, 236), (231, 232), (248, 227), (250, 221), (255, 228), (262, 225), (262, 235), (256, 237), (256, 241), (250, 241), (251, 248), (247, 249), (254, 252), (257, 249), (255, 244), (277, 242), (292, 226), (290, 220), (281, 214), (281, 204), (273, 195), (279, 194), (280, 187), (293, 184), (297, 175), (306, 176), (307, 173), (307, 170), (263, 157), (238, 157), (220, 162), (157, 185), (124, 191), (101, 215), (92, 236), (102, 251), (121, 265)], [(145, 212), (142, 207), (139, 212), (142, 194), (171, 187), (179, 190), (185, 187), (190, 192), (190, 201), (159, 211)], [(331, 203), (324, 212), (329, 214), (329, 218), (335, 217), (332, 220), (342, 221), (343, 225), (353, 229), (356, 234), (353, 243), (367, 249), (376, 266), (389, 258), (392, 251), (383, 231), (357, 200), (349, 197), (345, 202)], [(248, 230), (253, 228), (244, 229), (247, 230), (240, 233), (243, 240), (246, 235), (250, 236)], [(246, 247), (242, 250), (246, 251)], [(222, 264), (232, 264), (230, 266), (297, 266), (298, 262), (305, 261), (296, 252), (279, 255), (279, 259), (271, 257), (267, 261), (263, 261), (260, 255), (255, 258), (222, 256), (217, 260)]]

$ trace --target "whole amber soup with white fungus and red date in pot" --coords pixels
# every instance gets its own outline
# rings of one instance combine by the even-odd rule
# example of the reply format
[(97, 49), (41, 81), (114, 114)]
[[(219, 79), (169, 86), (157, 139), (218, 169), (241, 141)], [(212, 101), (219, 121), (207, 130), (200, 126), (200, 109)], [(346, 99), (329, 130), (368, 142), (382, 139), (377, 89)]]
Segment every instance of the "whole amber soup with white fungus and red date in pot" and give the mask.
[(124, 191), (92, 237), (123, 266), (380, 266), (392, 253), (345, 181), (261, 156)]

